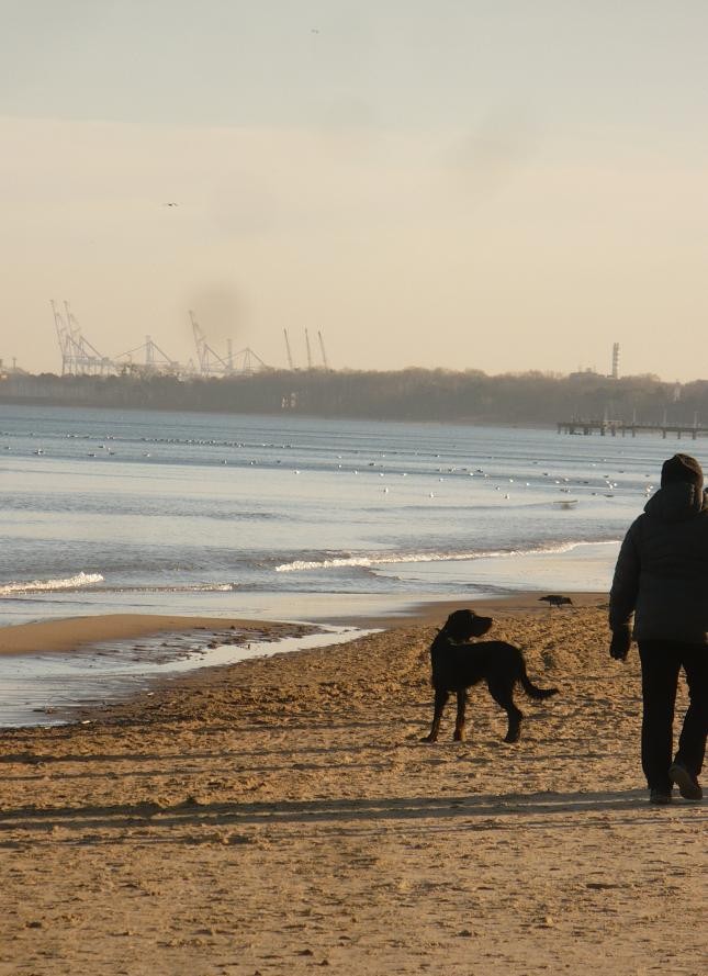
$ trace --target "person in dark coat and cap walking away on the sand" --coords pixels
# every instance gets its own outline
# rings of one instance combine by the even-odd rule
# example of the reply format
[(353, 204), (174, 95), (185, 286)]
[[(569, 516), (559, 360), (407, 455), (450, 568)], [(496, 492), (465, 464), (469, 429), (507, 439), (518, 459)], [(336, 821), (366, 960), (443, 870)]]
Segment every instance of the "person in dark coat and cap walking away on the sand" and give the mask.
[[(708, 731), (708, 498), (689, 455), (664, 462), (661, 487), (630, 526), (609, 595), (610, 655), (623, 661), (633, 638), (642, 669), (642, 769), (650, 801), (667, 804), (674, 784), (700, 800)], [(678, 675), (690, 704), (672, 760)]]

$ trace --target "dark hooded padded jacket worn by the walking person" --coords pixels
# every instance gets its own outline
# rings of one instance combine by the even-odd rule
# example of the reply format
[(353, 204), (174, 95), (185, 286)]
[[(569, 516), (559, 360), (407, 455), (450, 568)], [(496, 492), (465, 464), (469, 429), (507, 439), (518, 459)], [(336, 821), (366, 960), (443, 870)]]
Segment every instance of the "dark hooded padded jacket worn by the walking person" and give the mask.
[(686, 481), (661, 487), (629, 527), (609, 595), (609, 626), (634, 640), (708, 643), (708, 498)]

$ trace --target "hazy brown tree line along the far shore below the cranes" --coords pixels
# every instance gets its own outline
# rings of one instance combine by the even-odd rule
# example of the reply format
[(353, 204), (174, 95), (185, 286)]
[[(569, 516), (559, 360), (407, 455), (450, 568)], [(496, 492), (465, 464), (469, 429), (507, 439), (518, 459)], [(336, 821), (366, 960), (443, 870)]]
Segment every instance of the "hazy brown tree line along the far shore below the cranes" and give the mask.
[(572, 419), (708, 426), (708, 381), (584, 372), (263, 370), (223, 378), (9, 374), (3, 402), (302, 414), (393, 420), (552, 425)]

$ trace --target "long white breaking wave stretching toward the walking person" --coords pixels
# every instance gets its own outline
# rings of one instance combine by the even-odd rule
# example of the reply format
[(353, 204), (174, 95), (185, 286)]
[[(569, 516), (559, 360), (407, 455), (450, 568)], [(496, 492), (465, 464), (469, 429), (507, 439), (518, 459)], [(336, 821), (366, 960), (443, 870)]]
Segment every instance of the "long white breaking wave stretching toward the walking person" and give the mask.
[(476, 549), (463, 552), (377, 552), (369, 556), (337, 556), (326, 559), (295, 559), (276, 566), (277, 573), (295, 573), (307, 570), (336, 570), (362, 568), (411, 562), (463, 562), (472, 559), (519, 558), (525, 556), (553, 556), (571, 552), (581, 546), (615, 546), (619, 539), (575, 540), (557, 542), (547, 546), (535, 546), (528, 549)]

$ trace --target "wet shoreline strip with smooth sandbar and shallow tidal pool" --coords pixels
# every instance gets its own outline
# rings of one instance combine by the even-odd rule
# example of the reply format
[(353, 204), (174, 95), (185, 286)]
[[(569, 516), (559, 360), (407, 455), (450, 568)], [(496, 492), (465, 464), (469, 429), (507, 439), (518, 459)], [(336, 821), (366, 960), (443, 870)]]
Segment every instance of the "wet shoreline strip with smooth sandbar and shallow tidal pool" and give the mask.
[[(597, 606), (600, 594), (577, 594), (571, 612)], [(460, 601), (393, 602), (386, 615), (331, 614), (307, 622), (240, 617), (102, 614), (0, 628), (0, 728), (85, 723), (93, 708), (132, 700), (193, 676), (206, 682), (254, 658), (301, 654), (326, 646), (333, 654), (372, 631), (439, 628)], [(569, 613), (550, 608), (535, 593), (473, 602), (496, 617), (526, 615), (543, 621)]]

